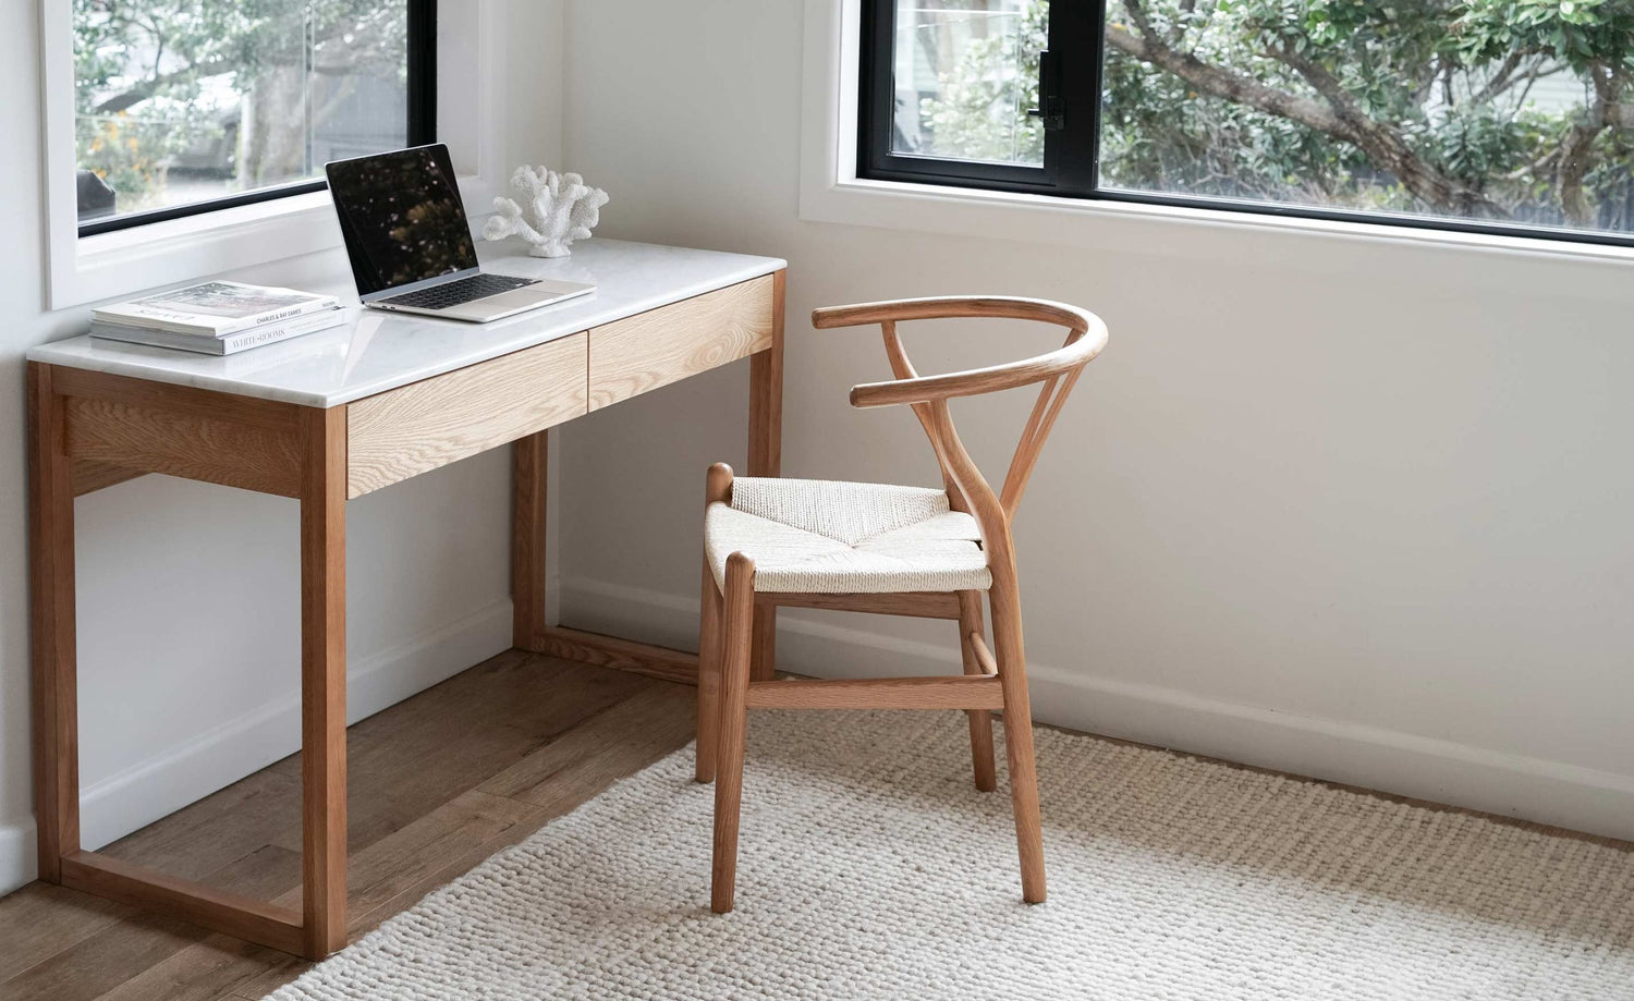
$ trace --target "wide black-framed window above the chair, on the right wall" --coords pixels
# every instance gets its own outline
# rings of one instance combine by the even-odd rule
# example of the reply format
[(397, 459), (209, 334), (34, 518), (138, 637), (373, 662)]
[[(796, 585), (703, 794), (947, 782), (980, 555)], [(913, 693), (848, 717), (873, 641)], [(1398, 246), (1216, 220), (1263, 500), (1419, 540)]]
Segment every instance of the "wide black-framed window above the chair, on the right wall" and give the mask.
[(863, 0), (858, 175), (1634, 243), (1627, 0)]

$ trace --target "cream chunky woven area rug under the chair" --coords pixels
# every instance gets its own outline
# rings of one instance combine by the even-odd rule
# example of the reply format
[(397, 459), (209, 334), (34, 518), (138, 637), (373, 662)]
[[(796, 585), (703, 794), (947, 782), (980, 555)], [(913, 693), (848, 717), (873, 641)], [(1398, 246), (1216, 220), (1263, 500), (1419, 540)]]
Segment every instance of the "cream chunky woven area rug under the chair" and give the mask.
[(768, 710), (735, 913), (685, 750), (271, 998), (1634, 998), (1627, 851), (1051, 730), (1038, 759), (1044, 905), (962, 714)]

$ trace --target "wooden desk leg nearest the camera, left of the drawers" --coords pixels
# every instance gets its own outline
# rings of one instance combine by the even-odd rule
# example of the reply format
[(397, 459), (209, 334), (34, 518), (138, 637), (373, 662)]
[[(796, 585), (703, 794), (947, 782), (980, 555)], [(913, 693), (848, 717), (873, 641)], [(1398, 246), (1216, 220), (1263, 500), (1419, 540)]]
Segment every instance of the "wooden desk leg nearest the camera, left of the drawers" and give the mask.
[(324, 959), (346, 944), (346, 408), (302, 423), (302, 945)]

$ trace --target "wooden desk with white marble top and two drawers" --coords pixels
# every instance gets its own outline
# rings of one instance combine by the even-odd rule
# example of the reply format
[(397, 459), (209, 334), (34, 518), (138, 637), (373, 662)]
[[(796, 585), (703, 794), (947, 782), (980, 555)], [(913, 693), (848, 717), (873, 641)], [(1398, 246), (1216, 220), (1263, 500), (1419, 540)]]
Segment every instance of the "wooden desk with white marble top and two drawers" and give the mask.
[[(776, 475), (786, 265), (592, 240), (565, 260), (487, 266), (598, 287), (490, 325), (353, 310), (345, 327), (230, 358), (88, 336), (28, 353), (39, 879), (310, 959), (343, 947), (346, 500), (492, 447), (515, 443), (513, 643), (696, 678), (691, 655), (546, 622), (544, 433), (748, 358), (748, 472)], [(301, 914), (80, 849), (74, 498), (149, 472), (301, 501)]]

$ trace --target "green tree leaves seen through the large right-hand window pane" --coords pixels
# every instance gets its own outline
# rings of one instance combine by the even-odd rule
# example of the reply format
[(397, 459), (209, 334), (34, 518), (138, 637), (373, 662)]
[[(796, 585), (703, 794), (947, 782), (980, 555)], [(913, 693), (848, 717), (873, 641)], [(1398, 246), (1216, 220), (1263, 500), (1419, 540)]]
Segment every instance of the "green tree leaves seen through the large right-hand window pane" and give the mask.
[[(1134, 0), (1118, 0), (1123, 16)], [(1634, 5), (1626, 0), (1147, 0), (1147, 26), (1173, 47), (1211, 67), (1260, 80), (1278, 91), (1340, 109), (1301, 64), (1327, 72), (1340, 101), (1397, 136), (1407, 155), (1453, 188), (1485, 199), (1489, 212), (1547, 224), (1621, 229), (1629, 196), (1626, 171), (1605, 170), (1616, 153), (1596, 144), (1598, 168), (1585, 180), (1593, 219), (1569, 219), (1557, 178), (1569, 129), (1585, 121), (1577, 93), (1616, 100), (1634, 52)], [(1109, 105), (1131, 101), (1118, 77), (1165, 77), (1129, 56), (1109, 59)], [(1547, 100), (1539, 95), (1547, 91)], [(1567, 95), (1562, 98), (1562, 95)], [(1134, 96), (1132, 101), (1139, 101)], [(1176, 188), (1141, 158), (1108, 158), (1108, 175), (1131, 186), (1191, 189), (1204, 194), (1253, 194), (1345, 207), (1461, 214), (1466, 206), (1410, 193), (1392, 163), (1373, 162), (1351, 142), (1315, 140), (1317, 129), (1263, 109), (1229, 113), (1219, 98), (1201, 108), (1142, 122), (1142, 136), (1119, 136), (1109, 150), (1134, 142), (1194, 149), (1206, 137), (1209, 170), (1193, 186)], [(1139, 116), (1123, 116), (1136, 119)], [(1265, 155), (1261, 131), (1288, 127), (1307, 140), (1281, 142)], [(1600, 127), (1611, 127), (1606, 122)], [(1157, 129), (1154, 132), (1152, 129)], [(1614, 129), (1613, 129), (1614, 131)], [(1149, 158), (1147, 158), (1149, 160)], [(1278, 183), (1299, 178), (1299, 183)], [(1281, 194), (1276, 194), (1278, 188)]]

